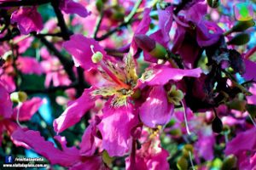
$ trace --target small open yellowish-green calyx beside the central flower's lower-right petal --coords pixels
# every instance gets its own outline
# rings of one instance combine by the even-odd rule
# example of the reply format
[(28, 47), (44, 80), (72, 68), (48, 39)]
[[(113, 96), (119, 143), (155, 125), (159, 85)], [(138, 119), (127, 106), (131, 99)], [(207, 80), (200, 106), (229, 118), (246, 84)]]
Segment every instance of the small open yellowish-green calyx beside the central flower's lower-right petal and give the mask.
[(183, 99), (183, 92), (176, 88), (175, 85), (172, 85), (172, 88), (167, 93), (167, 99), (169, 103), (173, 105), (179, 105), (179, 102)]

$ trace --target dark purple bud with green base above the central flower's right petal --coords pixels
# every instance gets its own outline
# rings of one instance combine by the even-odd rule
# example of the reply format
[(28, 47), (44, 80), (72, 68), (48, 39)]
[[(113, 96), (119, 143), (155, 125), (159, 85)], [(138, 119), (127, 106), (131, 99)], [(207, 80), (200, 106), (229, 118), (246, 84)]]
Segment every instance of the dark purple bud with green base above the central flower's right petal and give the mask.
[(167, 51), (160, 43), (146, 35), (137, 35), (134, 37), (139, 48), (148, 52), (151, 56), (157, 59), (166, 59)]

